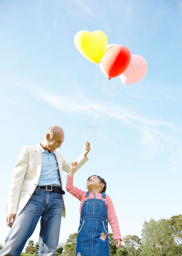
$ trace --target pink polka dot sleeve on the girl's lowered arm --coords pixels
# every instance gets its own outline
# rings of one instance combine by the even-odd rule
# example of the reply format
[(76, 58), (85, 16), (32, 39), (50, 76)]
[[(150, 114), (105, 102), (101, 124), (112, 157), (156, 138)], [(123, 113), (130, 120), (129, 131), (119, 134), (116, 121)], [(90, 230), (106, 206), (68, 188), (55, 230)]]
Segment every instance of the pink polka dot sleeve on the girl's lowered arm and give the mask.
[(122, 241), (121, 234), (120, 234), (120, 228), (119, 228), (119, 224), (118, 224), (118, 219), (116, 216), (116, 212), (114, 210), (114, 205), (112, 204), (112, 201), (108, 195), (106, 196), (106, 199), (108, 202), (108, 205), (107, 205), (108, 221), (109, 221), (109, 224), (112, 229), (112, 234), (114, 236), (114, 240), (120, 239)]

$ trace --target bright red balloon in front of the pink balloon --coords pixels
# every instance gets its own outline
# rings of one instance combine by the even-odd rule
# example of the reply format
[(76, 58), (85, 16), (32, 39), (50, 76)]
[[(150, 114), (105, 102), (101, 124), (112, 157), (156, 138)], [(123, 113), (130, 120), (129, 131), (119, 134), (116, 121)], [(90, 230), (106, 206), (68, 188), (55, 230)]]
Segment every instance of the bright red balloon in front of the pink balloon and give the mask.
[(104, 74), (109, 78), (119, 76), (129, 66), (131, 60), (130, 50), (124, 45), (109, 48), (102, 57)]

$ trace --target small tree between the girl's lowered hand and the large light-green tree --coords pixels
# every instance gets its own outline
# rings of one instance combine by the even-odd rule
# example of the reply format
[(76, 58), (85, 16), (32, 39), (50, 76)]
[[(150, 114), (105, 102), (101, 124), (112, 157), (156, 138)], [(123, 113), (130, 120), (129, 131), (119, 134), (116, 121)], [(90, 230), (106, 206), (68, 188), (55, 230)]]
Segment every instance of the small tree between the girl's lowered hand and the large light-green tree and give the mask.
[(127, 235), (123, 238), (124, 246), (128, 249), (128, 255), (138, 256), (141, 253), (141, 240), (136, 235)]

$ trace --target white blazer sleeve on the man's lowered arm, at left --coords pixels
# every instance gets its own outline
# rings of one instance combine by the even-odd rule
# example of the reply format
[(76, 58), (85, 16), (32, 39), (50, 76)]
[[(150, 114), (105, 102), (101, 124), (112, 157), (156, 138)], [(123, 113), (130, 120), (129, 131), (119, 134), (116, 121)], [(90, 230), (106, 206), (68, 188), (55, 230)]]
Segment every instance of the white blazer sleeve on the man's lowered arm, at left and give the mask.
[(21, 186), (24, 181), (29, 163), (29, 154), (26, 147), (23, 147), (18, 156), (16, 165), (14, 166), (12, 180), (8, 192), (8, 202), (6, 206), (6, 215), (16, 214), (18, 211), (18, 202), (20, 198)]

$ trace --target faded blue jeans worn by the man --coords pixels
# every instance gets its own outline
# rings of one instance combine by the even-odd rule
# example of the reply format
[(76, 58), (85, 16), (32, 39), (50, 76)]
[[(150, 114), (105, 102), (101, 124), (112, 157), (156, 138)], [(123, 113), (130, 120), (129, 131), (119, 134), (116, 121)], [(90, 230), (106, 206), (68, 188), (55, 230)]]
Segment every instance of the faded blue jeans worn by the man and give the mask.
[(60, 234), (62, 204), (62, 195), (36, 188), (14, 221), (5, 246), (0, 250), (0, 256), (19, 256), (28, 238), (34, 232), (40, 217), (38, 255), (54, 256)]

